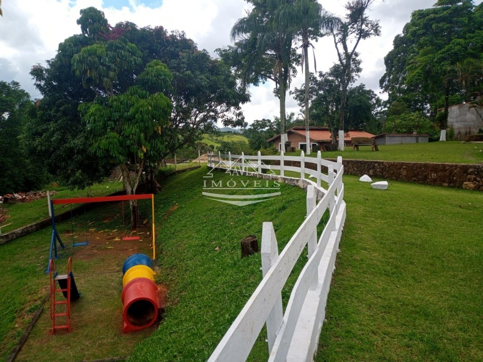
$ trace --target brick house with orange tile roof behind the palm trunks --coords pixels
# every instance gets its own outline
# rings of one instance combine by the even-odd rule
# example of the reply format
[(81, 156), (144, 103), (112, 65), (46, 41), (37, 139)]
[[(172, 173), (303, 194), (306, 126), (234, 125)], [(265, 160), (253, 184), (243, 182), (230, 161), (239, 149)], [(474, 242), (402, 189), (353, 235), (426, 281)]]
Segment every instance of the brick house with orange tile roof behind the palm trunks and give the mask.
[[(332, 144), (331, 131), (329, 131), (328, 127), (309, 127), (309, 136), (312, 150), (325, 151)], [(350, 130), (344, 134), (344, 144), (346, 147), (352, 146), (352, 137), (374, 137), (374, 135), (366, 131)], [(290, 151), (296, 151), (298, 149), (306, 151), (305, 126), (295, 126), (287, 130), (287, 140), (290, 143)], [(274, 147), (280, 151), (279, 134), (267, 141), (272, 142)]]

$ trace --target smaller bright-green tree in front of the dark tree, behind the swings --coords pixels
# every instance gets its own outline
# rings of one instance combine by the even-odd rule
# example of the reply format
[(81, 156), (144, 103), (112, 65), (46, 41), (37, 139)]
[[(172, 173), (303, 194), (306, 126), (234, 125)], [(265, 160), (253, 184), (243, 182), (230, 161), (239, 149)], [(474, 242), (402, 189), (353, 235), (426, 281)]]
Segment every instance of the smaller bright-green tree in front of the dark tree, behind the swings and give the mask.
[(127, 92), (81, 105), (91, 151), (103, 163), (120, 167), (128, 195), (135, 194), (144, 165), (155, 163), (165, 150), (162, 134), (172, 104), (162, 91), (171, 79), (167, 66), (153, 60)]

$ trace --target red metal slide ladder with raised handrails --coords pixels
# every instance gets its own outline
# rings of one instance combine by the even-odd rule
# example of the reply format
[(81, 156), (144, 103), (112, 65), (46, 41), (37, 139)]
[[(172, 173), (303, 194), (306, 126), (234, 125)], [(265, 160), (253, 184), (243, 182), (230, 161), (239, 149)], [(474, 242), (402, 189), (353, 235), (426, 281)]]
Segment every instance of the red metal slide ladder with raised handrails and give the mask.
[[(67, 274), (57, 275), (55, 273), (54, 260), (50, 259), (50, 318), (52, 319), (52, 330), (66, 329), (70, 332), (70, 283), (72, 278), (72, 258), (67, 262)], [(59, 288), (57, 289), (57, 283)], [(66, 283), (65, 283), (66, 282)], [(57, 293), (62, 293), (66, 300), (55, 299)], [(60, 309), (60, 311), (57, 310)], [(57, 318), (60, 319), (57, 320)], [(62, 323), (62, 324), (59, 324)]]

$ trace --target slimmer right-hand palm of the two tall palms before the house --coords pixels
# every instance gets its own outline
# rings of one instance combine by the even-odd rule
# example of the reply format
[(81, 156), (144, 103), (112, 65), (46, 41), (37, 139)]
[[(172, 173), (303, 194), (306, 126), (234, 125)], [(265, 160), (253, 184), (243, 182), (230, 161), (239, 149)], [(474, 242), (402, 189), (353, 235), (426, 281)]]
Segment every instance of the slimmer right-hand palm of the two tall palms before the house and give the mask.
[[(298, 29), (297, 37), (302, 43), (300, 45), (302, 49), (302, 72), (305, 66), (305, 142), (307, 154), (310, 154), (308, 48), (312, 47), (312, 50), (314, 48), (311, 41), (317, 41), (318, 37), (329, 35), (330, 31), (336, 31), (339, 25), (339, 19), (324, 10), (316, 0), (296, 0), (294, 10), (294, 27)], [(313, 63), (315, 71), (317, 71), (315, 54), (313, 54)]]

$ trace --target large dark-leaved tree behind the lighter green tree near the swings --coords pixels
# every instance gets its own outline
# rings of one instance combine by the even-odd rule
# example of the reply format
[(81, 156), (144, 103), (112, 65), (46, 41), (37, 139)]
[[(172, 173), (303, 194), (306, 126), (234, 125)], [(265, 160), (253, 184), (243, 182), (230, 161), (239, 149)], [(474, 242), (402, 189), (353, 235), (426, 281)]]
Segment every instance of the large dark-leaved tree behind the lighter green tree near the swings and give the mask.
[[(146, 174), (154, 174), (160, 158), (185, 144), (195, 144), (201, 131), (217, 121), (244, 122), (240, 103), (249, 100), (246, 92), (237, 87), (228, 66), (199, 51), (184, 33), (168, 33), (162, 27), (139, 29), (129, 22), (111, 27), (95, 8), (81, 11), (77, 23), (82, 34), (65, 39), (47, 66), (36, 65), (31, 72), (43, 95), (29, 129), (31, 150), (60, 182), (84, 188), (109, 172), (113, 164), (92, 152), (92, 132), (81, 119), (78, 105), (96, 100), (96, 106), (109, 108), (128, 99), (147, 102), (158, 91), (152, 88), (155, 84), (140, 84), (138, 80), (143, 71), (154, 72), (150, 74), (155, 78), (157, 68), (146, 69), (153, 60), (162, 61), (172, 70), (170, 87), (163, 93), (174, 107), (170, 126), (160, 135), (164, 147), (155, 147), (159, 158), (143, 161)], [(130, 87), (134, 85), (141, 87), (142, 96), (133, 95), (135, 89)], [(153, 150), (146, 153), (152, 155)]]

